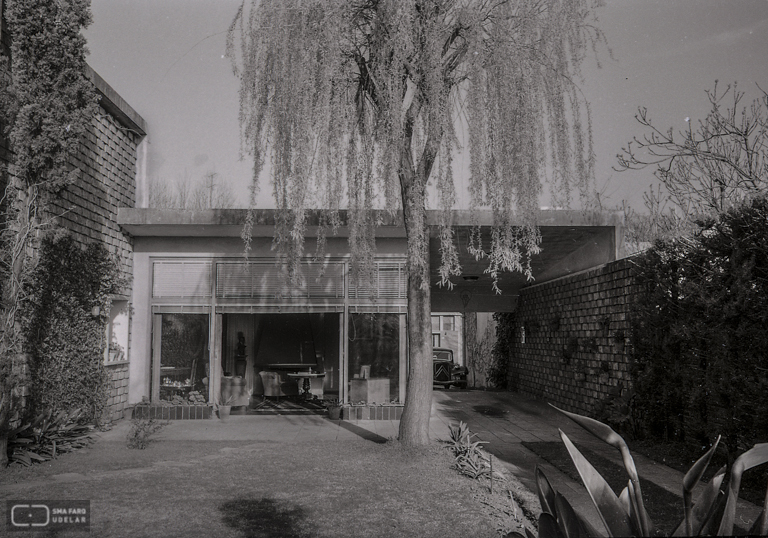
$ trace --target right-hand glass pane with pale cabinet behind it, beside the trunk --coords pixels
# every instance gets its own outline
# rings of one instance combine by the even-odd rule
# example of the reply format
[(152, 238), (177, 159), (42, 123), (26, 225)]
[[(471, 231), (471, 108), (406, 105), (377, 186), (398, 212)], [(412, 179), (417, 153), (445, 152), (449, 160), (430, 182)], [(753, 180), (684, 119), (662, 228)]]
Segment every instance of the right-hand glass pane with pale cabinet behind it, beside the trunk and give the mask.
[(398, 400), (400, 314), (350, 314), (348, 335), (350, 403)]

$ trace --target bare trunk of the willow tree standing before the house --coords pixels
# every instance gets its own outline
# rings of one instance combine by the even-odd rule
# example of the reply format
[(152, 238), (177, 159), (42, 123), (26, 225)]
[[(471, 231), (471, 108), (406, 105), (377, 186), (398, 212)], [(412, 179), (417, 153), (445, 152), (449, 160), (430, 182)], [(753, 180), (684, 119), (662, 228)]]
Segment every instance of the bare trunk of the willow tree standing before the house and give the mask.
[(429, 232), (421, 185), (403, 186), (403, 216), (408, 241), (408, 379), (400, 419), (400, 442), (429, 444), (432, 410), (432, 320), (429, 282)]

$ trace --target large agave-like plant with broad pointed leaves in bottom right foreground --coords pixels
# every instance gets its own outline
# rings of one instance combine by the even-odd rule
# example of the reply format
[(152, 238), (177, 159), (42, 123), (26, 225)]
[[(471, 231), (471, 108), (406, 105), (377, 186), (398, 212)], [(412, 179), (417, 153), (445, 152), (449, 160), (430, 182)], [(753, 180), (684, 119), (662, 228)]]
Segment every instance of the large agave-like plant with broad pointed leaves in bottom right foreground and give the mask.
[[(624, 462), (624, 468), (629, 475), (629, 482), (621, 494), (616, 496), (600, 473), (579, 452), (568, 436), (560, 430), (560, 437), (563, 443), (565, 443), (565, 447), (568, 449), (576, 470), (597, 508), (605, 529), (604, 531), (596, 529), (583, 516), (576, 513), (565, 497), (552, 488), (547, 477), (537, 468), (536, 486), (542, 510), (539, 516), (539, 538), (655, 535), (653, 522), (643, 505), (643, 495), (640, 490), (640, 479), (637, 469), (624, 439), (602, 422), (575, 413), (569, 413), (557, 407), (555, 409), (597, 438), (618, 449)], [(693, 488), (701, 480), (719, 442), (720, 438), (718, 437), (712, 448), (699, 458), (685, 474), (685, 477), (683, 477), (684, 515), (680, 524), (672, 532), (672, 536), (706, 536), (713, 534), (716, 536), (727, 536), (733, 534), (736, 500), (739, 495), (741, 477), (745, 471), (752, 467), (768, 462), (768, 443), (755, 445), (739, 456), (733, 463), (728, 480), (727, 500), (725, 500), (726, 494), (721, 490), (726, 474), (726, 468), (723, 466), (709, 483), (704, 486), (704, 489), (699, 493), (694, 502)], [(724, 509), (723, 502), (725, 502)], [(525, 532), (528, 538), (534, 538), (534, 535), (528, 529)], [(766, 492), (763, 510), (749, 531), (749, 534), (768, 534), (768, 491)], [(523, 535), (518, 532), (512, 532), (507, 536), (522, 537)]]

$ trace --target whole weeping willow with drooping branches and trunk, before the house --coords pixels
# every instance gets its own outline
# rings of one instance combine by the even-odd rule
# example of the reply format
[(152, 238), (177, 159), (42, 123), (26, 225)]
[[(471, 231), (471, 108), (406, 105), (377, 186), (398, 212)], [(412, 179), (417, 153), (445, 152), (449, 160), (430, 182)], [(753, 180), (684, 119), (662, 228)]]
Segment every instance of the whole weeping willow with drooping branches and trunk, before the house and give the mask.
[[(490, 244), (481, 244), (476, 227), (470, 252), (487, 257), (494, 282), (502, 271), (531, 276), (543, 179), (555, 203), (567, 206), (593, 172), (576, 81), (602, 40), (596, 7), (594, 0), (253, 0), (233, 21), (228, 54), (241, 83), (253, 192), (268, 173), (278, 208), (274, 244), (289, 276), (304, 255), (311, 210), (330, 228), (346, 218), (358, 278), (373, 263), (371, 209), (402, 211), (406, 444), (429, 441), (428, 188), (439, 200), (442, 285), (461, 273), (450, 210), (459, 183), (452, 159), (464, 139), (469, 207), (495, 218)], [(325, 229), (321, 243), (324, 236)]]

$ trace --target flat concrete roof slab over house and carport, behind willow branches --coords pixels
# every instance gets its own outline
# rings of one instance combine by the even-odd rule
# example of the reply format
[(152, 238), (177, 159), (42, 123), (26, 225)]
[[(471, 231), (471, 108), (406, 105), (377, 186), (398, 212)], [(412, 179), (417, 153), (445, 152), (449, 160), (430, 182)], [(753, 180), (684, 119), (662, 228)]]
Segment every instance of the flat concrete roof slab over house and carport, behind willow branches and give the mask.
[[(131, 209), (120, 208), (117, 222), (135, 237), (239, 237), (247, 215), (246, 209)], [(254, 212), (253, 237), (272, 237), (277, 210), (258, 209)], [(430, 266), (432, 305), (436, 312), (513, 311), (520, 288), (546, 282), (613, 261), (620, 248), (621, 221), (617, 214), (585, 215), (580, 211), (542, 210), (538, 215), (541, 231), (541, 252), (531, 259), (534, 280), (521, 273), (503, 273), (498, 285), (502, 293), (493, 291), (492, 278), (486, 273), (488, 258), (476, 260), (467, 251), (473, 225), (481, 226), (484, 247), (491, 245), (493, 214), (479, 212), (474, 220), (469, 211), (452, 213), (458, 243), (462, 275), (453, 277), (452, 289), (439, 287), (440, 243), (437, 237), (439, 212), (428, 211), (430, 230)], [(315, 235), (321, 213), (308, 215), (307, 236)], [(337, 237), (347, 237), (348, 214), (340, 214), (341, 226)], [(401, 213), (374, 211), (378, 223), (376, 236), (405, 239)]]

